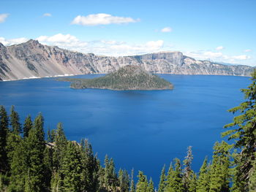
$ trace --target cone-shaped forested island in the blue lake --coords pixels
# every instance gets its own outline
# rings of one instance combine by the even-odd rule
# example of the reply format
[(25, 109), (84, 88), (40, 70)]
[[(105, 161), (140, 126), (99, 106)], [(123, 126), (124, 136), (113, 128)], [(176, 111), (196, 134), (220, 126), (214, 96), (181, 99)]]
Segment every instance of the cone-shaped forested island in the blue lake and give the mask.
[(118, 71), (94, 79), (61, 78), (71, 82), (71, 88), (99, 88), (110, 90), (167, 90), (173, 85), (155, 74), (146, 72), (140, 66), (123, 66)]

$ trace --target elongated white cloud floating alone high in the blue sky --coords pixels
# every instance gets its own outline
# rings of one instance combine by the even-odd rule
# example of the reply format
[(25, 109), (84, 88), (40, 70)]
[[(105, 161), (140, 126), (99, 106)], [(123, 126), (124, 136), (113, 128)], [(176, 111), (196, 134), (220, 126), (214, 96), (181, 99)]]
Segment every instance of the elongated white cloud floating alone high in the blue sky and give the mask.
[(139, 19), (135, 20), (133, 18), (123, 18), (117, 17), (105, 13), (92, 14), (87, 16), (78, 15), (72, 24), (81, 25), (81, 26), (97, 26), (97, 25), (109, 25), (112, 23), (121, 24), (121, 23), (135, 23), (140, 21)]

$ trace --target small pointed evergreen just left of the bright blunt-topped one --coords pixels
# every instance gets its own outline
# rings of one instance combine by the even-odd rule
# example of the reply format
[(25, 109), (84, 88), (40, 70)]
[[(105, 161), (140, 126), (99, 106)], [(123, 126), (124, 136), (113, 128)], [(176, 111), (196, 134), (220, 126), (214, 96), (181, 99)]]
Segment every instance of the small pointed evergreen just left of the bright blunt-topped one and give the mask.
[(210, 174), (209, 174), (209, 166), (207, 163), (207, 157), (203, 161), (203, 165), (200, 168), (199, 177), (197, 180), (197, 192), (208, 192), (209, 191), (209, 180), (210, 180)]

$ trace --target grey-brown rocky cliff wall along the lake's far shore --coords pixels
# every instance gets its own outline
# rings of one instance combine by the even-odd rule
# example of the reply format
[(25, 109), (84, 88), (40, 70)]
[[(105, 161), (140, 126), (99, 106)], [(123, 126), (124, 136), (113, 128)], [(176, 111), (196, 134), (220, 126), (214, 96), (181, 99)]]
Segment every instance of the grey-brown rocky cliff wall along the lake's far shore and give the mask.
[(148, 72), (162, 74), (249, 76), (253, 70), (250, 66), (226, 66), (210, 61), (196, 61), (180, 52), (115, 58), (72, 52), (41, 45), (34, 40), (8, 47), (0, 43), (0, 80), (110, 73), (126, 65), (141, 66)]

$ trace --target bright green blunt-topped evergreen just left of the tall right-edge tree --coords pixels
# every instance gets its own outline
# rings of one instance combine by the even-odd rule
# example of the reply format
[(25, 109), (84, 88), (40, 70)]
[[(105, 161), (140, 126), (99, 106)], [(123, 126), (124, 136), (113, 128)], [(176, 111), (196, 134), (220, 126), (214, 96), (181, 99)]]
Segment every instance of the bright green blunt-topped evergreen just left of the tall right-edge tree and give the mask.
[(222, 141), (214, 145), (210, 169), (210, 192), (230, 191), (230, 145)]

